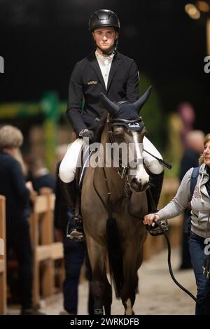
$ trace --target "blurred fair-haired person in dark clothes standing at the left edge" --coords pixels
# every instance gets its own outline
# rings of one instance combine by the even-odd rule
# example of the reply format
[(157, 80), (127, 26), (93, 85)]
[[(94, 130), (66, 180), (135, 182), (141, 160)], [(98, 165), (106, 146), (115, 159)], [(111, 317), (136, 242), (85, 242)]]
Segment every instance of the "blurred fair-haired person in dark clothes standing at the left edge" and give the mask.
[(30, 181), (25, 182), (20, 162), (15, 159), (22, 145), (22, 132), (11, 125), (0, 128), (0, 194), (6, 197), (6, 244), (19, 264), (22, 315), (41, 315), (32, 307), (33, 253), (29, 235)]

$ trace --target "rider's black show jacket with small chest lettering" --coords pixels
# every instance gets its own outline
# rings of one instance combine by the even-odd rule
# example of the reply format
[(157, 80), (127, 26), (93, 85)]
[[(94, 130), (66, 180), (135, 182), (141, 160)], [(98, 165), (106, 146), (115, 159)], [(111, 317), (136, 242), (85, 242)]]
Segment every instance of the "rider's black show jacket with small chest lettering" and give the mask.
[(69, 82), (66, 114), (77, 135), (85, 128), (94, 129), (102, 118), (105, 110), (99, 102), (100, 92), (112, 102), (135, 102), (139, 93), (139, 73), (134, 60), (116, 52), (107, 89), (94, 52), (76, 63)]

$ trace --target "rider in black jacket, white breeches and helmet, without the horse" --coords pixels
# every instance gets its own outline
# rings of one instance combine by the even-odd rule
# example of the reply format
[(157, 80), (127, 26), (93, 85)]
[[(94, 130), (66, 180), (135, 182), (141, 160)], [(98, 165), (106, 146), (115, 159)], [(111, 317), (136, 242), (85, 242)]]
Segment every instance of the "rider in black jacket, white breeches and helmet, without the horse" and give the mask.
[[(97, 10), (90, 17), (89, 30), (95, 49), (76, 63), (69, 81), (66, 114), (77, 139), (66, 152), (59, 167), (62, 190), (71, 208), (75, 207), (76, 203), (75, 174), (83, 138), (89, 138), (90, 142), (94, 141), (97, 125), (106, 112), (99, 99), (100, 93), (103, 92), (111, 102), (134, 103), (139, 97), (137, 64), (133, 59), (117, 51), (120, 21), (116, 13), (106, 9)], [(162, 158), (147, 137), (144, 137), (143, 144), (149, 153)], [(163, 166), (145, 151), (143, 158), (152, 182), (151, 195), (157, 207), (162, 189)], [(80, 239), (83, 236), (83, 225), (80, 220), (75, 221), (69, 235), (73, 239)]]

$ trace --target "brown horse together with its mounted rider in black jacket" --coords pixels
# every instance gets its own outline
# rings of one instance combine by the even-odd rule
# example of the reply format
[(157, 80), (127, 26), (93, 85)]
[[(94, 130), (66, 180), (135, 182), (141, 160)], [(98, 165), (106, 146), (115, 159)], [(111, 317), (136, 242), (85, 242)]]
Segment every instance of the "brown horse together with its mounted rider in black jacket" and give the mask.
[[(139, 98), (139, 72), (133, 59), (117, 51), (120, 22), (116, 13), (101, 9), (89, 20), (95, 49), (76, 63), (69, 81), (67, 117), (76, 132), (59, 167), (64, 197), (76, 208), (70, 225), (70, 239), (84, 237), (92, 267), (94, 313), (111, 312), (111, 285), (106, 277), (106, 255), (110, 273), (121, 297), (125, 314), (134, 314), (133, 304), (138, 288), (137, 270), (143, 258), (147, 231), (140, 220), (156, 211), (164, 169), (162, 157), (145, 134), (139, 111), (151, 88)], [(108, 114), (109, 113), (109, 114)], [(84, 141), (100, 141), (106, 150), (111, 143), (124, 144), (132, 160), (118, 168), (88, 167), (80, 190), (80, 213), (76, 168)], [(146, 151), (144, 151), (146, 150)], [(94, 155), (106, 158), (107, 152)], [(112, 159), (113, 155), (111, 155)], [(148, 188), (149, 187), (149, 188)], [(83, 221), (82, 219), (83, 218)]]

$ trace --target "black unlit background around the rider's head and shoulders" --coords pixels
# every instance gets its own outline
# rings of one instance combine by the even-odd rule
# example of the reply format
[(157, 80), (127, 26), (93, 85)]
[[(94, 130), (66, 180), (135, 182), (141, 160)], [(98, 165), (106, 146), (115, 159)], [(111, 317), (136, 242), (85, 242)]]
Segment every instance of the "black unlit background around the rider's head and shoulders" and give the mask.
[(140, 75), (148, 76), (162, 111), (175, 111), (188, 101), (195, 107), (195, 128), (209, 132), (205, 20), (190, 19), (184, 10), (187, 2), (0, 0), (0, 55), (5, 60), (0, 102), (39, 101), (47, 90), (57, 90), (65, 101), (73, 65), (93, 49), (89, 17), (109, 8), (122, 27), (118, 50), (135, 59)]

